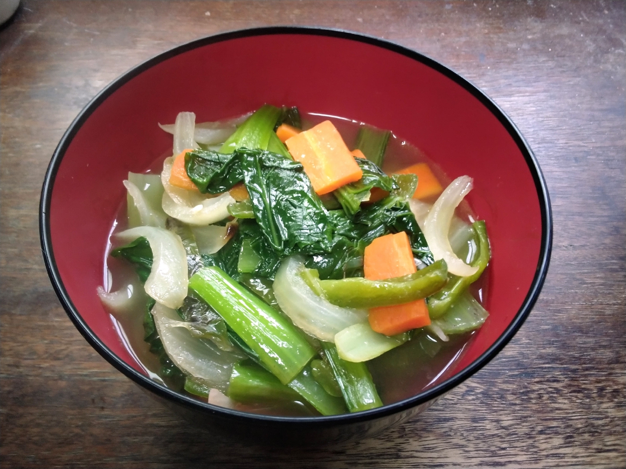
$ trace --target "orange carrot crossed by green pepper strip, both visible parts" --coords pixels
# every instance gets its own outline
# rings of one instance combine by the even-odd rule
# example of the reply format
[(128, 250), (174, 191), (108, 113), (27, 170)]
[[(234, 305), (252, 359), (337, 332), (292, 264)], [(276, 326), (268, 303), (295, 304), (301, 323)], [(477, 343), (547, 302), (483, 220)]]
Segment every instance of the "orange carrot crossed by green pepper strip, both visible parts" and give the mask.
[[(409, 236), (401, 231), (376, 238), (365, 248), (363, 270), (369, 280), (386, 280), (416, 272)], [(430, 324), (424, 299), (372, 308), (368, 320), (372, 330), (384, 335), (396, 335)]]

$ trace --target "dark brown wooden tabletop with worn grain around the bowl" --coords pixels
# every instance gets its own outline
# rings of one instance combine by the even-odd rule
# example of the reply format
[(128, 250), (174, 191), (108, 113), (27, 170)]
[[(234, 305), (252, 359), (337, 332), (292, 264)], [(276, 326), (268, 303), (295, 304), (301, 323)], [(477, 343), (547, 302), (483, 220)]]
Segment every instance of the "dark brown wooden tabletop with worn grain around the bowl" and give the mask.
[[(105, 84), (185, 41), (267, 24), (362, 31), (447, 64), (511, 116), (550, 189), (552, 263), (525, 325), (379, 438), (280, 450), (191, 428), (83, 340), (39, 251), (44, 171)], [(626, 466), (625, 24), (620, 1), (24, 0), (0, 31), (0, 466)]]

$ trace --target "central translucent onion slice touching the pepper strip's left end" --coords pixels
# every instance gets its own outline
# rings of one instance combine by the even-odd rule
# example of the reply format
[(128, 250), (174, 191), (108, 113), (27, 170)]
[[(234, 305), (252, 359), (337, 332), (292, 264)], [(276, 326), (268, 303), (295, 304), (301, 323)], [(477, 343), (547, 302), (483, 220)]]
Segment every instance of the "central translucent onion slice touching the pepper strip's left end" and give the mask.
[(367, 321), (367, 310), (341, 308), (317, 296), (300, 276), (302, 269), (302, 258), (287, 258), (274, 281), (276, 301), (296, 326), (319, 340), (334, 342), (339, 331)]

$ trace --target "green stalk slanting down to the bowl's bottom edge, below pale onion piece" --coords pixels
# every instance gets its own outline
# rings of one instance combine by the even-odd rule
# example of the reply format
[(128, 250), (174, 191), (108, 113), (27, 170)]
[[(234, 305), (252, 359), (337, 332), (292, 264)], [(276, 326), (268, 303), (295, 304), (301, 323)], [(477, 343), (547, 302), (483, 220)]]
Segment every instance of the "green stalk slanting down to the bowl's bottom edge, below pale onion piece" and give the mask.
[(352, 363), (339, 358), (332, 343), (322, 342), (326, 358), (332, 366), (349, 411), (374, 409), (382, 406), (372, 375), (365, 363)]

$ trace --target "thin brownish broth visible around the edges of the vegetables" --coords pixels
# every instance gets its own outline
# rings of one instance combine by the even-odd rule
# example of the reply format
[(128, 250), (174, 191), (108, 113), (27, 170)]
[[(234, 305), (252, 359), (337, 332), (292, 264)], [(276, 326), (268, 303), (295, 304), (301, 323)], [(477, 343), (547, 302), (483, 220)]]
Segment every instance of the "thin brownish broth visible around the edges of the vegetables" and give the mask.
[[(302, 128), (311, 128), (315, 124), (325, 120), (331, 120), (339, 133), (341, 133), (347, 146), (354, 148), (357, 133), (359, 128), (364, 125), (363, 123), (324, 114), (302, 114)], [(156, 158), (154, 163), (150, 165), (150, 168), (146, 168), (145, 173), (160, 174), (163, 168), (163, 160), (168, 156), (171, 156), (170, 149)], [(444, 174), (438, 164), (429, 159), (426, 154), (412, 144), (404, 141), (402, 138), (393, 134), (391, 135), (382, 166), (382, 169), (387, 174), (394, 173), (394, 171), (420, 162), (428, 163), (428, 166), (444, 188), (451, 182), (451, 179)], [(436, 196), (427, 201), (433, 203), (434, 200), (436, 200)], [(456, 210), (456, 215), (467, 223), (471, 223), (475, 220), (475, 216), (467, 203), (459, 205)], [(143, 340), (143, 321), (138, 318), (143, 318), (145, 314), (145, 300), (147, 296), (143, 292), (141, 284), (138, 283), (135, 270), (126, 261), (113, 258), (109, 255), (110, 251), (118, 247), (119, 244), (116, 243), (113, 235), (123, 231), (127, 227), (126, 199), (124, 199), (120, 204), (115, 222), (111, 227), (110, 244), (107, 246), (105, 255), (103, 285), (105, 291), (117, 291), (125, 286), (133, 285), (133, 297), (136, 299), (136, 303), (134, 304), (139, 311), (135, 311), (134, 314), (111, 315), (111, 321), (113, 321), (120, 335), (120, 340), (141, 365), (146, 375), (149, 375), (152, 379), (163, 385), (171, 385), (171, 383), (168, 383), (167, 379), (163, 380), (156, 374), (159, 370), (160, 363), (155, 354), (151, 353), (148, 343)], [(485, 306), (488, 296), (488, 292), (486, 291), (487, 286), (488, 270), (486, 270), (480, 280), (476, 281), (470, 288), (473, 296), (480, 301), (483, 306)], [(386, 405), (404, 400), (446, 380), (453, 374), (455, 363), (463, 355), (474, 333), (475, 332), (452, 335), (449, 341), (435, 341), (433, 340), (434, 335), (432, 333), (430, 335), (417, 333), (412, 340), (367, 362), (367, 366), (371, 372), (372, 379), (374, 380), (382, 402)], [(190, 394), (190, 396), (198, 398), (198, 396), (195, 395)], [(319, 415), (317, 411), (314, 410), (311, 405), (304, 402), (304, 400), (280, 404), (241, 404), (238, 405), (238, 408), (244, 411), (267, 415)]]

